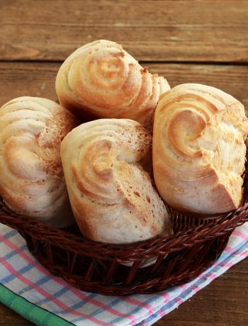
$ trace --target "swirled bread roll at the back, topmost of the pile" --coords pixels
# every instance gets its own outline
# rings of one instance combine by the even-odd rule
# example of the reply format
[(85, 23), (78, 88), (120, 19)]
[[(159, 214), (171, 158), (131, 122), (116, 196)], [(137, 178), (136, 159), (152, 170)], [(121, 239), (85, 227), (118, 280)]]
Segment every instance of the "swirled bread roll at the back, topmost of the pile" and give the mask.
[(150, 74), (109, 40), (79, 47), (57, 73), (60, 104), (84, 121), (129, 118), (151, 128), (159, 95), (170, 89), (164, 77)]

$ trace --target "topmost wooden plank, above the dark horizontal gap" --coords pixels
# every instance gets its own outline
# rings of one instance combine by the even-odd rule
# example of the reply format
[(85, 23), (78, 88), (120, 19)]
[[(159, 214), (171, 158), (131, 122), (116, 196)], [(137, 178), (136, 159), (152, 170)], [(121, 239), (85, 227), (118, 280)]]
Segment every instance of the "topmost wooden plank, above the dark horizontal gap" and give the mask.
[(1, 0), (0, 60), (64, 60), (97, 39), (137, 60), (248, 62), (248, 1)]

